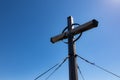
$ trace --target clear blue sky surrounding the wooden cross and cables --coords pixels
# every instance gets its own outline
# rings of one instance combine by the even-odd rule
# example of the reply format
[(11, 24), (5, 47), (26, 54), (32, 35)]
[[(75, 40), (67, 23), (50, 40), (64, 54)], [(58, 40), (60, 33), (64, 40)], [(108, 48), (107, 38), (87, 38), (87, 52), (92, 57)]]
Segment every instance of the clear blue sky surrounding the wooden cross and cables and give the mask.
[[(77, 41), (76, 52), (120, 75), (119, 0), (0, 0), (0, 80), (33, 80), (63, 60), (67, 45), (52, 44), (50, 37), (62, 32), (68, 16), (80, 24), (99, 21)], [(78, 64), (86, 80), (119, 80), (80, 59)], [(49, 80), (68, 80), (68, 61)]]

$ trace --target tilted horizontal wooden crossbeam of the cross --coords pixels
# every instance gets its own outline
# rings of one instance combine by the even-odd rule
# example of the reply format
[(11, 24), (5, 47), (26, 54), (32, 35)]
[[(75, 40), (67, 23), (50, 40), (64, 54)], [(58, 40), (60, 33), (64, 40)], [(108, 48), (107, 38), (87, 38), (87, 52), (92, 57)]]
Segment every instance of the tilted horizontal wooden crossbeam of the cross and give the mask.
[(87, 30), (92, 29), (92, 28), (97, 27), (97, 26), (98, 26), (98, 21), (93, 19), (85, 24), (82, 24), (82, 25), (74, 28), (73, 30), (71, 30), (70, 33), (68, 31), (66, 31), (64, 33), (61, 33), (59, 35), (52, 37), (51, 42), (52, 43), (58, 42), (60, 40), (68, 38), (68, 34), (76, 35), (76, 34), (87, 31)]

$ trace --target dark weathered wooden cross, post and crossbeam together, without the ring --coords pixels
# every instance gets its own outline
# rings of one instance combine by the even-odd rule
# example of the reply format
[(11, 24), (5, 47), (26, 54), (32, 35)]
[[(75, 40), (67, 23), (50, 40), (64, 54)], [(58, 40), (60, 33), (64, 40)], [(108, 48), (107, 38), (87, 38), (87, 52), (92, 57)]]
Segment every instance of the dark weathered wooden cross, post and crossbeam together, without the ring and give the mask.
[(51, 42), (55, 43), (57, 41), (68, 38), (69, 80), (78, 80), (74, 36), (91, 28), (97, 27), (98, 21), (93, 19), (92, 21), (89, 21), (83, 25), (73, 28), (73, 18), (72, 16), (69, 16), (67, 18), (67, 23), (68, 31), (52, 37)]

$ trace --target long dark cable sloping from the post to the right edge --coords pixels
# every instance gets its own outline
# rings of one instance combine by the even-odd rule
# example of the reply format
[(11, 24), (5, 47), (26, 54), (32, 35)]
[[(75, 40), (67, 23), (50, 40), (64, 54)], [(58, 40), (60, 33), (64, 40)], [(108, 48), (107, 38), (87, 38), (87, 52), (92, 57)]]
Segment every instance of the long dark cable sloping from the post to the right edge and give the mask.
[(78, 56), (80, 59), (84, 60), (85, 62), (87, 62), (87, 63), (89, 63), (89, 64), (91, 64), (91, 65), (93, 65), (93, 66), (95, 66), (95, 67), (97, 67), (97, 68), (99, 68), (99, 69), (101, 69), (101, 70), (103, 70), (103, 71), (109, 73), (109, 74), (112, 74), (112, 75), (114, 75), (114, 76), (120, 78), (119, 75), (117, 75), (117, 74), (115, 74), (115, 73), (113, 73), (113, 72), (111, 72), (111, 71), (109, 71), (109, 70), (107, 70), (107, 69), (104, 69), (103, 67), (100, 67), (100, 66), (96, 65), (95, 63), (92, 63), (92, 62), (86, 60), (85, 58), (83, 58), (83, 57), (81, 57), (81, 56), (79, 56), (79, 55), (77, 55), (77, 56)]

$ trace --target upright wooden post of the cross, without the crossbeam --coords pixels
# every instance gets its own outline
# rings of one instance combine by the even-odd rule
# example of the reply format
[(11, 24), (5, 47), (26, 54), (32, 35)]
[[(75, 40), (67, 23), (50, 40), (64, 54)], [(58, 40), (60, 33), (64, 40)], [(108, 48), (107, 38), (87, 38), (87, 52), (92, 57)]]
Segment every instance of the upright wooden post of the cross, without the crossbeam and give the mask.
[(78, 80), (78, 72), (77, 72), (77, 62), (76, 62), (76, 51), (75, 51), (75, 43), (74, 35), (71, 34), (73, 29), (73, 18), (69, 16), (67, 18), (68, 21), (68, 56), (69, 56), (69, 80)]

